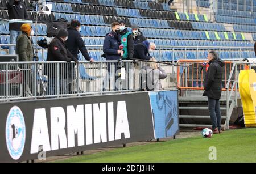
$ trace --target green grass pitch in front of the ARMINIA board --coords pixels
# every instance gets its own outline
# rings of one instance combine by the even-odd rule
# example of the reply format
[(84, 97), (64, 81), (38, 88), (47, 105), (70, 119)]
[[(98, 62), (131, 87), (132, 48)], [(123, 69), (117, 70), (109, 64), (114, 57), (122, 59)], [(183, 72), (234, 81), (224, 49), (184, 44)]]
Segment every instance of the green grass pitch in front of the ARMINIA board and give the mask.
[[(210, 160), (209, 147), (217, 160)], [(118, 148), (56, 162), (256, 162), (256, 128), (229, 130), (212, 138), (192, 137)]]

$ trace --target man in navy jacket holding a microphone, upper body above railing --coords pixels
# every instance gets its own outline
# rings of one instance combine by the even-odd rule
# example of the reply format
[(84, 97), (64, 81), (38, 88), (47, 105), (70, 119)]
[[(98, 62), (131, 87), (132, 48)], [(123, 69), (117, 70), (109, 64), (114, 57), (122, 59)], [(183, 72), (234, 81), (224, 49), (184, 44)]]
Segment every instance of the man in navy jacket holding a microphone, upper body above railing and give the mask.
[(111, 24), (112, 31), (105, 37), (103, 44), (103, 52), (107, 61), (119, 60), (123, 51), (119, 49), (121, 45), (120, 24), (114, 22)]

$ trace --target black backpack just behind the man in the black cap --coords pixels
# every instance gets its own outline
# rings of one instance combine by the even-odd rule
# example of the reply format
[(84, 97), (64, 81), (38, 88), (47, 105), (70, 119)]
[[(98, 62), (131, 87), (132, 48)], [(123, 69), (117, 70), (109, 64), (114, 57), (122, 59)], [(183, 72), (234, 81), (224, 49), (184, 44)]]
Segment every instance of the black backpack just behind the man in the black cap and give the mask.
[(56, 21), (50, 22), (46, 24), (46, 32), (47, 37), (55, 37), (57, 36), (60, 29), (67, 29), (70, 26), (70, 23), (68, 20), (65, 20), (64, 18), (60, 18)]

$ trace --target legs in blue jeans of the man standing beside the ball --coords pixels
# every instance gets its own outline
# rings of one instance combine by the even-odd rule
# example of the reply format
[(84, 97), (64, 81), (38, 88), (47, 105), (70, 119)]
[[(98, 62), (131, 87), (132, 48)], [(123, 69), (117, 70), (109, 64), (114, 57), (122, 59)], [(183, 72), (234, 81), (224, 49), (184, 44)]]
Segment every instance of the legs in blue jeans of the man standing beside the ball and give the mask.
[(210, 119), (212, 120), (212, 129), (221, 129), (221, 111), (220, 100), (211, 99), (208, 97), (208, 108), (210, 113)]

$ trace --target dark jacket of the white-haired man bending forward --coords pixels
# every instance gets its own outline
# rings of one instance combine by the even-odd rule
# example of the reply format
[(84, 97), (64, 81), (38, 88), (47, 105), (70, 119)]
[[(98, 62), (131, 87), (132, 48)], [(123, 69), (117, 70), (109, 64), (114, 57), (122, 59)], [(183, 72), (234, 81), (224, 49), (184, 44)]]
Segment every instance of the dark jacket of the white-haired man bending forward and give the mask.
[[(150, 60), (150, 58), (152, 58), (152, 56), (150, 56), (150, 54), (148, 54), (149, 44), (150, 43), (148, 41), (143, 41), (142, 43), (135, 45), (133, 58), (142, 59), (142, 60)], [(147, 56), (147, 54), (148, 54), (148, 56)]]

